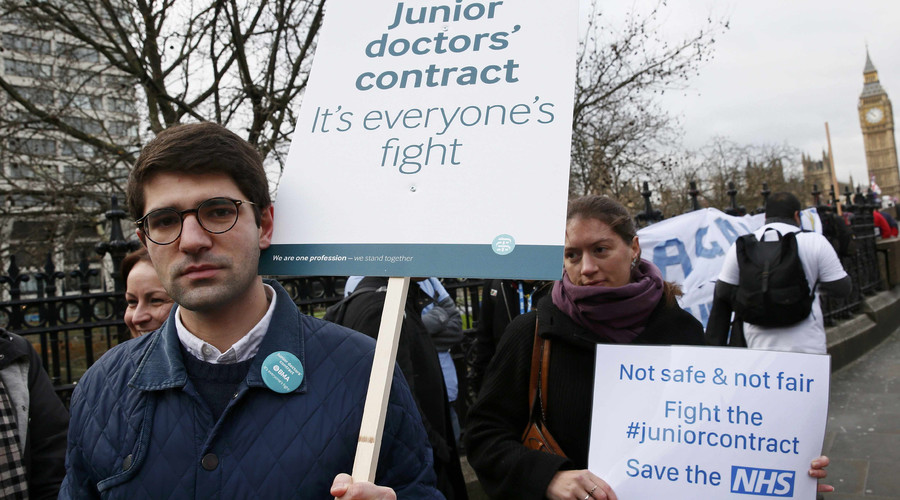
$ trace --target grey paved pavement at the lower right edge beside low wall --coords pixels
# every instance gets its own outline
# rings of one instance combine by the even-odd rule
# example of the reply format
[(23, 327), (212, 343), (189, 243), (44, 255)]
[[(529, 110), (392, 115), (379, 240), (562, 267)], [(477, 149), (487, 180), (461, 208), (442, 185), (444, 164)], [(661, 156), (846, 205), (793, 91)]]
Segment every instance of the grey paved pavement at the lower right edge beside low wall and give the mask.
[(900, 328), (831, 376), (825, 500), (900, 499)]

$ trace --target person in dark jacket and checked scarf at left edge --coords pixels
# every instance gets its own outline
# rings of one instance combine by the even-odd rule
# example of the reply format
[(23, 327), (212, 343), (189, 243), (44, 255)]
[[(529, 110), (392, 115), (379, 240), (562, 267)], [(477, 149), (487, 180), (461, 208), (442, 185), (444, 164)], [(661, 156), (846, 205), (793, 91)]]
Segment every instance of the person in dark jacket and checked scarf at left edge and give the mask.
[(0, 498), (57, 497), (68, 423), (38, 353), (0, 328)]

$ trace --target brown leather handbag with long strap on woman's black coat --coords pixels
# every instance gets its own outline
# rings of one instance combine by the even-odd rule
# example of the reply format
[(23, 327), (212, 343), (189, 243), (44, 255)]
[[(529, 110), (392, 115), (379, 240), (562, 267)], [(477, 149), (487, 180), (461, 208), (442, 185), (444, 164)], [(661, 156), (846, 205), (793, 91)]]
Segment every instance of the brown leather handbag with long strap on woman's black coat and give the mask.
[(531, 349), (531, 379), (528, 388), (530, 416), (528, 426), (522, 434), (522, 444), (526, 448), (545, 451), (565, 457), (562, 448), (550, 435), (544, 423), (547, 418), (544, 398), (547, 396), (547, 379), (550, 373), (550, 341), (538, 335), (537, 319), (534, 325), (534, 346)]

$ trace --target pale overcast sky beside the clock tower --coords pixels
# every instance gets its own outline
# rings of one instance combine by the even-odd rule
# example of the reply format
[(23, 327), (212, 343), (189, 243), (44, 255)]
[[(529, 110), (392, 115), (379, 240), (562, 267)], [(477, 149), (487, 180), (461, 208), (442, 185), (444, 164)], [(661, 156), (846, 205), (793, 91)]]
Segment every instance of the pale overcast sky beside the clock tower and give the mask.
[[(656, 4), (598, 1), (613, 18)], [(672, 37), (696, 31), (709, 15), (730, 24), (690, 87), (662, 101), (681, 118), (686, 148), (721, 135), (739, 144), (787, 143), (819, 158), (827, 121), (838, 179), (866, 182), (856, 108), (866, 43), (882, 87), (900, 103), (900, 1), (670, 0), (664, 12), (661, 29)]]

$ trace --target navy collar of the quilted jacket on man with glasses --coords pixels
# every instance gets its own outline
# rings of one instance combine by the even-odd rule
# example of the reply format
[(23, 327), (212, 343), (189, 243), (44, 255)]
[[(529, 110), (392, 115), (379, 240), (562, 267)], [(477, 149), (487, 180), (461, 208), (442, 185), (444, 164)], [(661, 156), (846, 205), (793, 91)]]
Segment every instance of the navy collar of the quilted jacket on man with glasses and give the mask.
[[(300, 328), (300, 312), (290, 295), (277, 281), (265, 280), (265, 282), (275, 289), (278, 299), (272, 322), (247, 373), (246, 382), (249, 387), (266, 387), (261, 373), (262, 364), (274, 352), (287, 351), (297, 356), (301, 365), (306, 367), (305, 338)], [(173, 307), (165, 324), (151, 334), (153, 338), (150, 339), (146, 352), (139, 360), (137, 370), (128, 383), (130, 387), (141, 391), (158, 391), (184, 387), (187, 383), (187, 371), (181, 358), (181, 342), (175, 331), (176, 309)], [(304, 373), (303, 382), (294, 392), (306, 392), (306, 378), (307, 374)]]

